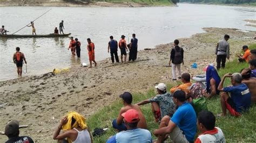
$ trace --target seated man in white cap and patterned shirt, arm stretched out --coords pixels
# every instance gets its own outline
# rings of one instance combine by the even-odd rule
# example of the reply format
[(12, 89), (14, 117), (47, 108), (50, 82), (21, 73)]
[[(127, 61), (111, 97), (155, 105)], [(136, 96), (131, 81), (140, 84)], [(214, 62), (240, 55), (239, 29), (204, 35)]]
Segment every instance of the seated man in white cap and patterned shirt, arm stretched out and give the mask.
[(172, 100), (172, 95), (166, 92), (166, 85), (164, 83), (159, 83), (156, 87), (158, 95), (151, 99), (146, 99), (142, 102), (137, 103), (137, 105), (144, 105), (151, 103), (151, 109), (154, 114), (156, 122), (160, 121), (164, 116), (171, 116), (175, 111), (175, 104)]

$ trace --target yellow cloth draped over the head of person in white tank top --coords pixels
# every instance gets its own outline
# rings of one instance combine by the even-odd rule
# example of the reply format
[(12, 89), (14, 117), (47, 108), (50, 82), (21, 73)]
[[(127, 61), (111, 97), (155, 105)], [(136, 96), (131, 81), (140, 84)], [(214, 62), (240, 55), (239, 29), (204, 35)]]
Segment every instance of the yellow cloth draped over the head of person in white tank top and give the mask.
[[(77, 127), (80, 127), (83, 130), (87, 128), (87, 125), (85, 123), (86, 119), (79, 113), (72, 111), (72, 112), (69, 112), (68, 115), (66, 115), (66, 117), (68, 118), (68, 122), (62, 126), (63, 131), (71, 130), (72, 128), (77, 128)], [(76, 122), (71, 126), (72, 118), (74, 118)], [(69, 138), (68, 138), (68, 141), (72, 142)]]

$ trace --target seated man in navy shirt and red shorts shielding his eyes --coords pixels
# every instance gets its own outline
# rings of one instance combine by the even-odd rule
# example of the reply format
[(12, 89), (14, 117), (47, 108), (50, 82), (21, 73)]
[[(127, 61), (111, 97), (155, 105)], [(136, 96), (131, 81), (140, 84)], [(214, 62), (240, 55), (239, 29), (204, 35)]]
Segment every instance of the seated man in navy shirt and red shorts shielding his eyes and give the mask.
[[(233, 86), (223, 87), (226, 77), (231, 77), (231, 84)], [(219, 84), (218, 90), (224, 91), (221, 93), (220, 97), (222, 113), (218, 115), (219, 117), (226, 116), (226, 110), (228, 110), (232, 116), (241, 116), (241, 112), (247, 111), (250, 108), (251, 92), (246, 84), (242, 83), (241, 74), (225, 74)], [(231, 97), (228, 96), (227, 92), (230, 92)]]

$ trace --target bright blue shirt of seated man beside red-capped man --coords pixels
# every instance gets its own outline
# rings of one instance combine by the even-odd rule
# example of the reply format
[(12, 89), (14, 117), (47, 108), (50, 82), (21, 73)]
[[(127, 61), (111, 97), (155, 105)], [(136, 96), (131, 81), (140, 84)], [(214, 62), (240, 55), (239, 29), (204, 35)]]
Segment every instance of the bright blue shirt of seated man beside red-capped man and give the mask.
[(197, 132), (197, 115), (190, 103), (180, 105), (171, 121), (178, 125), (188, 141), (194, 141)]

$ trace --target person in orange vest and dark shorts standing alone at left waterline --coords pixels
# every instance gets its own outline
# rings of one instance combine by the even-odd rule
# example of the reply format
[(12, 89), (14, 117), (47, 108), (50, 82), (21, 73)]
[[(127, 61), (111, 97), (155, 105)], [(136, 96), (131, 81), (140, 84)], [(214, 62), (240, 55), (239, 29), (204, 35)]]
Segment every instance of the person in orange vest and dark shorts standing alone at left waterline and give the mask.
[(21, 77), (22, 76), (23, 60), (26, 64), (26, 58), (22, 52), (19, 52), (19, 50), (20, 50), (20, 48), (16, 47), (16, 52), (14, 53), (14, 56), (12, 59), (14, 60), (14, 63), (16, 63), (18, 76)]

